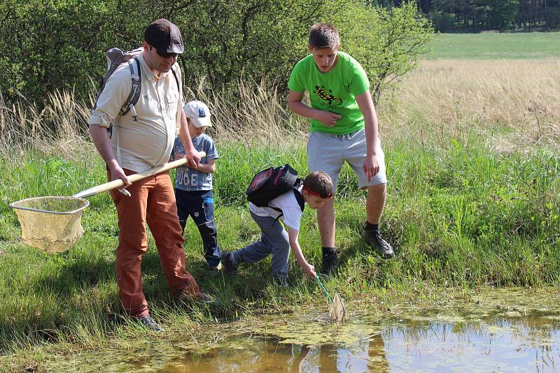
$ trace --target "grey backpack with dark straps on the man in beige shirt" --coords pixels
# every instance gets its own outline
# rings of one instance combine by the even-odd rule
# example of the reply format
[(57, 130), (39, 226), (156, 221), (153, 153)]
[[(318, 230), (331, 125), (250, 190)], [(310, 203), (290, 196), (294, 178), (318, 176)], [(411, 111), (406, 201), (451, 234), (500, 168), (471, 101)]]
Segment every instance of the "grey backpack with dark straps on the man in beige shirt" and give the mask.
[[(127, 62), (132, 78), (132, 89), (130, 89), (130, 94), (128, 95), (123, 105), (120, 107), (118, 115), (127, 115), (127, 113), (130, 112), (132, 118), (134, 119), (134, 122), (138, 120), (138, 115), (136, 113), (136, 110), (134, 110), (134, 105), (140, 98), (142, 88), (142, 75), (140, 73), (140, 61), (138, 61), (138, 59), (135, 57), (139, 56), (142, 53), (142, 49), (142, 47), (138, 47), (127, 52), (118, 48), (111, 48), (110, 50), (107, 50), (107, 52), (105, 53), (107, 56), (107, 72), (105, 73), (105, 76), (99, 80), (99, 93), (97, 94), (97, 98), (95, 98), (95, 103), (93, 105), (94, 110), (95, 108), (97, 108), (97, 100), (103, 92), (103, 89), (105, 88), (106, 82), (107, 80), (109, 80), (109, 77), (113, 74), (113, 72), (115, 72), (120, 64)], [(171, 71), (177, 83), (177, 87), (179, 88), (179, 93), (181, 93), (182, 89), (181, 84), (179, 83), (179, 77), (177, 76), (177, 72), (175, 71), (176, 68), (178, 68), (178, 66), (174, 64)], [(111, 127), (109, 127), (109, 132), (111, 132)]]

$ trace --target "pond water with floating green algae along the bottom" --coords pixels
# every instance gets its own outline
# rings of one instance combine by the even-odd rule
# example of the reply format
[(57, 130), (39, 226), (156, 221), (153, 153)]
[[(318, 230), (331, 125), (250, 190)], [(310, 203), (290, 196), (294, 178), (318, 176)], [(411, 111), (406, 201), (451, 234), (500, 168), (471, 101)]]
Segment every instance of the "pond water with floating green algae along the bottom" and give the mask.
[(90, 356), (89, 364), (74, 360), (73, 367), (162, 373), (556, 372), (559, 300), (558, 293), (495, 291), (374, 311), (367, 301), (355, 302), (347, 306), (359, 311), (339, 326), (328, 321), (325, 309), (262, 316), (194, 342), (152, 341), (126, 354)]

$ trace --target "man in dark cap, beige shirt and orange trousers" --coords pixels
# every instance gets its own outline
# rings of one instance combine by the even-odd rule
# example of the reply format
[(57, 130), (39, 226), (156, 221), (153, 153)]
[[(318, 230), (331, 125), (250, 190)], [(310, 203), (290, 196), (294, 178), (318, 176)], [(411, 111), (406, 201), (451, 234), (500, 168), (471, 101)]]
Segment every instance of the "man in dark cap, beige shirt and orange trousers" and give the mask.
[[(202, 300), (192, 275), (185, 268), (183, 235), (177, 216), (169, 172), (131, 184), (127, 175), (160, 166), (169, 160), (176, 129), (186, 158), (196, 167), (200, 156), (188, 135), (183, 112), (181, 70), (177, 55), (183, 53), (181, 31), (165, 19), (155, 20), (144, 31), (143, 50), (134, 57), (136, 75), (128, 63), (121, 64), (106, 80), (90, 116), (92, 140), (107, 166), (109, 180), (122, 179), (125, 191), (112, 191), (120, 228), (116, 272), (120, 301), (125, 311), (156, 332), (162, 328), (148, 312), (142, 292), (141, 258), (148, 249), (146, 223), (155, 239), (164, 275), (174, 298)], [(136, 78), (136, 80), (134, 80)], [(140, 87), (135, 87), (134, 82)], [(141, 96), (123, 113), (134, 89)], [(111, 136), (107, 129), (112, 124)]]

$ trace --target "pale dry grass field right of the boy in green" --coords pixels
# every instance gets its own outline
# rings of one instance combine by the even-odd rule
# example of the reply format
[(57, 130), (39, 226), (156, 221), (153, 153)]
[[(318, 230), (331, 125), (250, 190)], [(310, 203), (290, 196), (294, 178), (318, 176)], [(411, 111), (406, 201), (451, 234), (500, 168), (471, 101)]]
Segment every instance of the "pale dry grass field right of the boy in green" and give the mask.
[(509, 150), (560, 136), (560, 61), (421, 61), (378, 105), (388, 137), (461, 138), (470, 130)]

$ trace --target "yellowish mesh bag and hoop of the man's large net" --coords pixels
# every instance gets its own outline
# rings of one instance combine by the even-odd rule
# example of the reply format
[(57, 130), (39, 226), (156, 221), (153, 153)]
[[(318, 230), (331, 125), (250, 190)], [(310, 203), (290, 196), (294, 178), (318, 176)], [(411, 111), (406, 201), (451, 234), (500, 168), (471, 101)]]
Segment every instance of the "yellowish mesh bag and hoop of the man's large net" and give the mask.
[(22, 240), (49, 254), (70, 249), (83, 235), (83, 210), (90, 203), (76, 197), (36, 197), (12, 204), (22, 227)]

